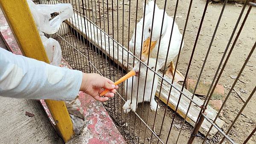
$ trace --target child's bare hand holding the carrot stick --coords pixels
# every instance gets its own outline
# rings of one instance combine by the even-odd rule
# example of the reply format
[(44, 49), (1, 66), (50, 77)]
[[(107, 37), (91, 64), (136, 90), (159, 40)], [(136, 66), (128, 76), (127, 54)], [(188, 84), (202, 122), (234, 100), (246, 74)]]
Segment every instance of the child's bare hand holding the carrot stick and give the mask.
[[(99, 96), (99, 94), (104, 91), (102, 90), (102, 88), (110, 90), (110, 92), (105, 94), (106, 97), (104, 98)], [(109, 80), (108, 78), (102, 77), (99, 74), (83, 73), (83, 79), (82, 79), (82, 84), (80, 86), (80, 91), (83, 91), (88, 95), (91, 95), (97, 101), (108, 101), (109, 97), (114, 96), (114, 93), (116, 93), (117, 88), (118, 86), (115, 86), (113, 81)]]

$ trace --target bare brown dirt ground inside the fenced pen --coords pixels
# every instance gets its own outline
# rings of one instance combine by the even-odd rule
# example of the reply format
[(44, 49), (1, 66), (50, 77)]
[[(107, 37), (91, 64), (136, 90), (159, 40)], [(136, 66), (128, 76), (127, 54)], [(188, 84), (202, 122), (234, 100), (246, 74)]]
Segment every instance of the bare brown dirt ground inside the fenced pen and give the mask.
[[(140, 20), (141, 17), (143, 17), (142, 6), (144, 2), (142, 2), (141, 0), (138, 0), (138, 2), (139, 2), (138, 8), (136, 8), (136, 0), (131, 0), (131, 2), (128, 0), (119, 0), (118, 6), (116, 3), (116, 0), (115, 1), (108, 0), (108, 6), (107, 6), (106, 0), (104, 1), (99, 0), (99, 3), (98, 1), (95, 2), (94, 0), (90, 0), (90, 1), (85, 0), (84, 7), (87, 7), (87, 10), (85, 10), (85, 15), (88, 18), (90, 17), (91, 21), (96, 23), (99, 27), (105, 30), (105, 32), (107, 32), (109, 35), (114, 37), (114, 39), (118, 40), (119, 43), (123, 44), (125, 47), (128, 47), (128, 41), (131, 39), (133, 30), (136, 24), (136, 9), (138, 12), (137, 22)], [(113, 3), (113, 9), (112, 9), (112, 3)], [(129, 3), (131, 3), (130, 10), (129, 10)], [(174, 14), (175, 3), (176, 3), (175, 0), (168, 0), (167, 2), (166, 12), (168, 13), (169, 16), (173, 16)], [(188, 22), (186, 33), (184, 36), (185, 44), (184, 44), (183, 50), (181, 51), (180, 59), (178, 63), (178, 69), (184, 75), (187, 70), (189, 58), (191, 57), (192, 48), (195, 44), (195, 37), (198, 32), (198, 26), (201, 21), (201, 16), (204, 10), (205, 3), (206, 3), (205, 0), (193, 0), (193, 3), (192, 3), (192, 9), (189, 15), (189, 22)], [(103, 5), (104, 5), (104, 9), (103, 9)], [(164, 0), (157, 0), (157, 5), (160, 9), (163, 9)], [(73, 0), (73, 6), (74, 6), (74, 9), (80, 8), (81, 12), (83, 12), (81, 0)], [(96, 9), (95, 9), (95, 6), (96, 6)], [(122, 8), (123, 6), (124, 6), (124, 11)], [(198, 75), (202, 68), (202, 64), (204, 62), (205, 55), (209, 47), (209, 43), (212, 38), (212, 34), (214, 32), (215, 25), (217, 23), (222, 6), (223, 6), (223, 3), (213, 3), (213, 2), (209, 3), (209, 6), (207, 8), (207, 13), (204, 18), (204, 23), (201, 29), (201, 33), (198, 39), (198, 43), (195, 49), (195, 54), (193, 56), (192, 64), (189, 68), (189, 78), (196, 79), (196, 80), (198, 79)], [(185, 24), (187, 12), (188, 12), (188, 7), (189, 7), (189, 1), (185, 1), (185, 0), (179, 1), (177, 16), (176, 16), (177, 17), (176, 23), (179, 26), (181, 33), (183, 33), (184, 24)], [(108, 8), (108, 11), (107, 11), (107, 8)], [(228, 40), (230, 39), (230, 35), (233, 31), (233, 28), (241, 12), (241, 8), (242, 7), (240, 4), (227, 3), (227, 6), (224, 10), (224, 14), (221, 19), (221, 23), (218, 27), (218, 31), (212, 43), (209, 57), (207, 59), (207, 63), (204, 67), (204, 72), (200, 81), (212, 82), (213, 76), (215, 75), (215, 72), (221, 60), (221, 57), (223, 56), (223, 52), (226, 49)], [(247, 12), (247, 9), (248, 9), (248, 6), (243, 14), (242, 20), (244, 18), (245, 13)], [(112, 14), (112, 10), (113, 10), (113, 14)], [(118, 17), (117, 17), (117, 12), (119, 14)], [(130, 21), (129, 21), (129, 12), (130, 12)], [(124, 17), (122, 16), (122, 14), (124, 15)], [(241, 69), (245, 59), (247, 58), (247, 55), (249, 54), (253, 44), (255, 43), (255, 40), (256, 40), (255, 15), (256, 15), (256, 8), (253, 8), (250, 12), (249, 17), (247, 18), (247, 22), (245, 23), (245, 26), (233, 49), (233, 52), (228, 60), (228, 63), (224, 68), (224, 72), (221, 75), (221, 79), (218, 82), (218, 84), (221, 84), (224, 86), (225, 95), (227, 95), (227, 93), (230, 91), (230, 87), (235, 81), (234, 77), (239, 73), (239, 70)], [(122, 23), (122, 21), (124, 21), (124, 23)], [(112, 23), (114, 24), (112, 25)], [(241, 26), (241, 21), (240, 21), (239, 27), (240, 26)], [(234, 37), (233, 37), (233, 40), (234, 40)], [(125, 72), (122, 72), (121, 69), (116, 66), (116, 64), (113, 64), (113, 62), (109, 61), (108, 58), (105, 55), (102, 55), (97, 49), (88, 48), (85, 42), (79, 44), (78, 41), (80, 37), (77, 38), (77, 37), (67, 35), (67, 36), (64, 36), (64, 38), (68, 42), (70, 40), (70, 44), (74, 46), (72, 53), (70, 53), (70, 51), (68, 51), (67, 49), (72, 48), (72, 46), (69, 46), (67, 42), (65, 42), (64, 40), (58, 39), (62, 43), (61, 46), (64, 47), (63, 48), (64, 58), (66, 58), (66, 60), (70, 63), (70, 65), (73, 66), (73, 68), (87, 71), (89, 62), (85, 60), (86, 58), (84, 58), (84, 56), (86, 56), (86, 57), (94, 58), (93, 64), (98, 69), (100, 69), (100, 71), (103, 72), (105, 76), (107, 76), (108, 78), (111, 78), (112, 80), (114, 79), (116, 80), (118, 77), (122, 76), (122, 73), (125, 73)], [(233, 44), (233, 41), (231, 45), (232, 44)], [(75, 48), (77, 50), (75, 50)], [(84, 56), (81, 55), (79, 52), (81, 52)], [(176, 62), (177, 60), (175, 59), (174, 61)], [(235, 86), (235, 89), (239, 92), (239, 95), (241, 95), (241, 97), (244, 98), (245, 100), (248, 98), (248, 96), (250, 95), (250, 93), (252, 92), (256, 84), (256, 77), (254, 76), (256, 72), (255, 62), (256, 62), (256, 52), (253, 52), (253, 55), (248, 61), (247, 66), (245, 66), (244, 71), (242, 72), (240, 81), (238, 81)], [(92, 66), (90, 67), (92, 68)], [(91, 69), (91, 71), (96, 72), (94, 69)], [(119, 89), (119, 93), (125, 99), (125, 95), (122, 89)], [(140, 127), (140, 120), (138, 119), (138, 117), (135, 118), (134, 113), (132, 113), (131, 115), (128, 115), (125, 120), (125, 115), (122, 114), (122, 109), (121, 109), (122, 105), (124, 104), (124, 101), (122, 101), (122, 99), (118, 95), (116, 95), (115, 98), (116, 98), (115, 100), (112, 99), (111, 102), (105, 103), (105, 105), (106, 105), (106, 109), (112, 113), (111, 115), (113, 120), (116, 122), (116, 127), (118, 127), (120, 132), (124, 135), (124, 137), (130, 143), (137, 143), (136, 140), (138, 139), (139, 133), (140, 133), (140, 143), (144, 142), (144, 138), (145, 138), (145, 143), (149, 143), (148, 138), (150, 139), (151, 132), (147, 130), (145, 135), (144, 124), (141, 124), (140, 132), (139, 130), (137, 130), (138, 127)], [(156, 124), (155, 124), (155, 127), (156, 127), (155, 130), (157, 133), (159, 132), (161, 127), (164, 108), (165, 108), (165, 104), (163, 104), (162, 102), (160, 102), (159, 104), (160, 104), (160, 109), (157, 112)], [(224, 132), (227, 131), (228, 127), (233, 122), (233, 119), (236, 117), (237, 113), (239, 112), (243, 104), (244, 103), (241, 101), (238, 95), (234, 91), (232, 91), (230, 97), (227, 100), (227, 103), (224, 106), (223, 116), (221, 118), (226, 123), (224, 124), (224, 127), (222, 127), (222, 130), (224, 130)], [(142, 116), (144, 121), (147, 120), (148, 108), (149, 108), (148, 106), (149, 106), (148, 103), (144, 104), (143, 116)], [(137, 113), (138, 115), (141, 115), (142, 104), (139, 104), (138, 109), (140, 109), (140, 112), (137, 112)], [(242, 112), (242, 115), (239, 117), (236, 124), (233, 126), (232, 130), (229, 132), (230, 138), (232, 138), (236, 143), (239, 143), (239, 144), (243, 143), (243, 141), (247, 138), (250, 132), (252, 132), (252, 130), (256, 127), (255, 109), (256, 109), (256, 97), (254, 94), (253, 98), (250, 100), (250, 102), (247, 104), (244, 111)], [(155, 114), (154, 112), (149, 111), (148, 125), (150, 127), (152, 127), (154, 122), (154, 114)], [(164, 121), (164, 127), (162, 130), (162, 135), (160, 136), (163, 142), (165, 142), (167, 139), (173, 115), (174, 115), (174, 112), (168, 108), (167, 116)], [(121, 116), (122, 116), (122, 119), (121, 119)], [(169, 144), (173, 144), (176, 142), (176, 138), (180, 130), (182, 121), (183, 119), (180, 118), (179, 116), (175, 118), (174, 127), (170, 132), (170, 136), (168, 140)], [(128, 127), (123, 126), (125, 122), (128, 123), (129, 125)], [(135, 127), (135, 131), (134, 131), (134, 127)], [(185, 123), (185, 127), (183, 129), (184, 130), (180, 135), (180, 138), (179, 138), (180, 140), (178, 141), (178, 144), (186, 143), (190, 136), (190, 133), (192, 132), (192, 126), (190, 126), (188, 123)], [(134, 136), (134, 139), (132, 139), (133, 136)], [(207, 143), (217, 143), (220, 139), (221, 139), (221, 136), (219, 135), (219, 133), (217, 133), (211, 140), (207, 140)], [(202, 140), (203, 139), (200, 136), (196, 137), (195, 144), (201, 143)], [(157, 139), (154, 136), (151, 143), (157, 143)], [(250, 143), (252, 144), (256, 143), (255, 134), (250, 139)]]

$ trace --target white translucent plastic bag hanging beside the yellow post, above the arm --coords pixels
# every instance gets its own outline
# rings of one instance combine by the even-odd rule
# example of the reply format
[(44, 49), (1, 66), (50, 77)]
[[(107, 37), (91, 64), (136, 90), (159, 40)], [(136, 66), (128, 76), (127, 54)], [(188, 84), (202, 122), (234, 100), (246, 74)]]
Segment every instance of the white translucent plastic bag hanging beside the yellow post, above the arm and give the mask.
[[(73, 8), (70, 3), (59, 3), (56, 5), (36, 5), (32, 0), (27, 0), (29, 9), (35, 20), (39, 35), (44, 44), (50, 64), (59, 66), (61, 64), (61, 46), (57, 40), (47, 38), (44, 33), (54, 34), (58, 32), (62, 22), (73, 15)], [(52, 13), (59, 13), (52, 18)], [(51, 20), (50, 20), (51, 19)]]

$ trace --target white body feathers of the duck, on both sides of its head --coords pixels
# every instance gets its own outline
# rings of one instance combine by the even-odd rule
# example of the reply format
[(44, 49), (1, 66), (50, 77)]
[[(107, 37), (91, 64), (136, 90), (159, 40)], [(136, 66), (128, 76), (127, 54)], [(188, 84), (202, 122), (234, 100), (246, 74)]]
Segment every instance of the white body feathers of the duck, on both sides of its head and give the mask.
[[(157, 5), (156, 5), (156, 9), (160, 10), (160, 9), (158, 9)], [(148, 4), (146, 5), (146, 14), (148, 14), (150, 11), (153, 11), (153, 10), (154, 10), (154, 1), (149, 1)], [(162, 11), (162, 9), (161, 9), (161, 11)], [(166, 60), (166, 55), (167, 55), (167, 51), (168, 51), (173, 19), (170, 16), (167, 16), (167, 18), (168, 18), (168, 25), (167, 25), (168, 27), (166, 29), (165, 35), (163, 35), (163, 37), (161, 38), (158, 60)], [(139, 23), (137, 23), (136, 44), (134, 43), (135, 42), (135, 28), (134, 28), (133, 36), (129, 42), (129, 49), (137, 58), (140, 58), (141, 46), (142, 46), (141, 44), (143, 44), (143, 43), (141, 43), (142, 29), (143, 29), (143, 18), (140, 19)], [(172, 39), (171, 39), (171, 43), (170, 43), (166, 66), (169, 66), (169, 63), (177, 56), (179, 49), (180, 49), (181, 39), (182, 39), (182, 35), (180, 34), (179, 28), (178, 28), (177, 24), (174, 23)], [(134, 44), (135, 44), (135, 52), (134, 52)], [(181, 49), (183, 48), (183, 44), (184, 43), (182, 43)], [(157, 58), (158, 46), (159, 46), (159, 43), (157, 43), (155, 48), (150, 52), (151, 58)]]

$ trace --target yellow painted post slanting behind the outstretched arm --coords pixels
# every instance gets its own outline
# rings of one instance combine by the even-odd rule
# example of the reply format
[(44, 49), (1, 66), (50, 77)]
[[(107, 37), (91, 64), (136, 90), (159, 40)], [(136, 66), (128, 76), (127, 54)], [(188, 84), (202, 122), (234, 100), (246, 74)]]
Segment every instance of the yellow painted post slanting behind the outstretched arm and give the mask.
[[(23, 55), (49, 63), (38, 29), (26, 0), (0, 0), (1, 9)], [(63, 140), (74, 135), (73, 125), (63, 101), (45, 100)]]

